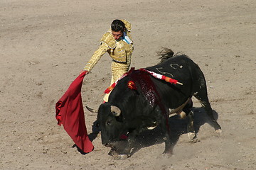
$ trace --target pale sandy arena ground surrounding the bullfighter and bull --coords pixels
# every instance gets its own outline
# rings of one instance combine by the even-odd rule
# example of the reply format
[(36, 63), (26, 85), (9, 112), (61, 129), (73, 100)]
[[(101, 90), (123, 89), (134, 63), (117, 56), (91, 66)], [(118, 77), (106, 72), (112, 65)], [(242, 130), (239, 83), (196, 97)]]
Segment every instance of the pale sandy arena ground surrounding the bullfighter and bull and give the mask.
[[(116, 18), (132, 23), (132, 67), (159, 62), (161, 47), (201, 67), (223, 135), (201, 123), (200, 142), (181, 135), (171, 158), (163, 157), (164, 142), (150, 132), (125, 160), (112, 159), (100, 136), (90, 154), (72, 147), (55, 120), (55, 103)], [(0, 169), (256, 169), (255, 28), (255, 0), (0, 0)], [(104, 55), (85, 77), (84, 106), (102, 103), (110, 62)], [(89, 134), (96, 118), (85, 110)]]

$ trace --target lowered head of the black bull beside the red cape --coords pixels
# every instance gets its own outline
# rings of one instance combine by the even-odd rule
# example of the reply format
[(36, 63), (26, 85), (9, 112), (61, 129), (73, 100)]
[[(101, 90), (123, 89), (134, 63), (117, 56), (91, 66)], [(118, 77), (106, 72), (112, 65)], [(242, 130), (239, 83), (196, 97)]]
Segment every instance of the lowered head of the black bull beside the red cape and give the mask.
[(124, 132), (122, 112), (117, 106), (103, 103), (98, 111), (97, 120), (101, 129), (102, 145), (113, 147)]

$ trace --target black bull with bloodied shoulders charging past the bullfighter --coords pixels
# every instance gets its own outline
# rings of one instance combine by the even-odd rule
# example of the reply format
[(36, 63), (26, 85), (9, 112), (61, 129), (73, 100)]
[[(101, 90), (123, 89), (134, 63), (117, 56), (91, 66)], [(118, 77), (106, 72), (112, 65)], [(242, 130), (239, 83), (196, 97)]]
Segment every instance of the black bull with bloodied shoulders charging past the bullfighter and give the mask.
[(221, 132), (220, 125), (213, 118), (203, 72), (186, 55), (172, 57), (172, 54), (171, 50), (166, 52), (163, 55), (167, 57), (164, 62), (146, 69), (176, 79), (183, 85), (156, 79), (140, 70), (130, 71), (126, 77), (118, 81), (109, 101), (100, 105), (98, 110), (97, 121), (101, 129), (102, 145), (114, 150), (121, 143), (120, 137), (127, 135), (127, 145), (119, 154), (129, 157), (134, 137), (142, 130), (159, 125), (164, 134), (164, 153), (172, 154), (175, 142), (171, 139), (169, 130), (169, 114), (184, 111), (190, 118), (188, 132), (194, 133), (193, 112), (188, 106), (192, 96), (201, 102), (210, 125), (216, 132)]

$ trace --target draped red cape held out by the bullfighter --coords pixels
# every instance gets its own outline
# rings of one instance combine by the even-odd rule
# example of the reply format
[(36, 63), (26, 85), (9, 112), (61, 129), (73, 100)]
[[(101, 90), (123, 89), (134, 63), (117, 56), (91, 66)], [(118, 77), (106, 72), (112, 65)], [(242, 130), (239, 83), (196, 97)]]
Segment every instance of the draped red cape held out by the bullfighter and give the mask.
[(93, 150), (92, 142), (90, 141), (85, 126), (85, 115), (82, 107), (82, 80), (85, 77), (85, 72), (80, 74), (68, 90), (56, 103), (56, 115), (58, 125), (63, 125), (65, 131), (70, 135), (83, 152), (88, 153)]

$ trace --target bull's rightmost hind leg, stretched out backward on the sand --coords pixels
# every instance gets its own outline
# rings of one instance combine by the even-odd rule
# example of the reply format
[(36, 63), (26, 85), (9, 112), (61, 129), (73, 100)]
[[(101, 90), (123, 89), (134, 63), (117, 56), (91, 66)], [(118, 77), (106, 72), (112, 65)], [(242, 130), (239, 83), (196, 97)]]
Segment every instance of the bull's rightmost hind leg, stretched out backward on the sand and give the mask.
[(198, 90), (194, 96), (201, 102), (202, 107), (205, 109), (208, 115), (208, 123), (215, 129), (215, 132), (221, 132), (220, 125), (217, 123), (215, 118), (213, 117), (213, 109), (210, 107), (210, 103), (207, 96), (206, 86)]

